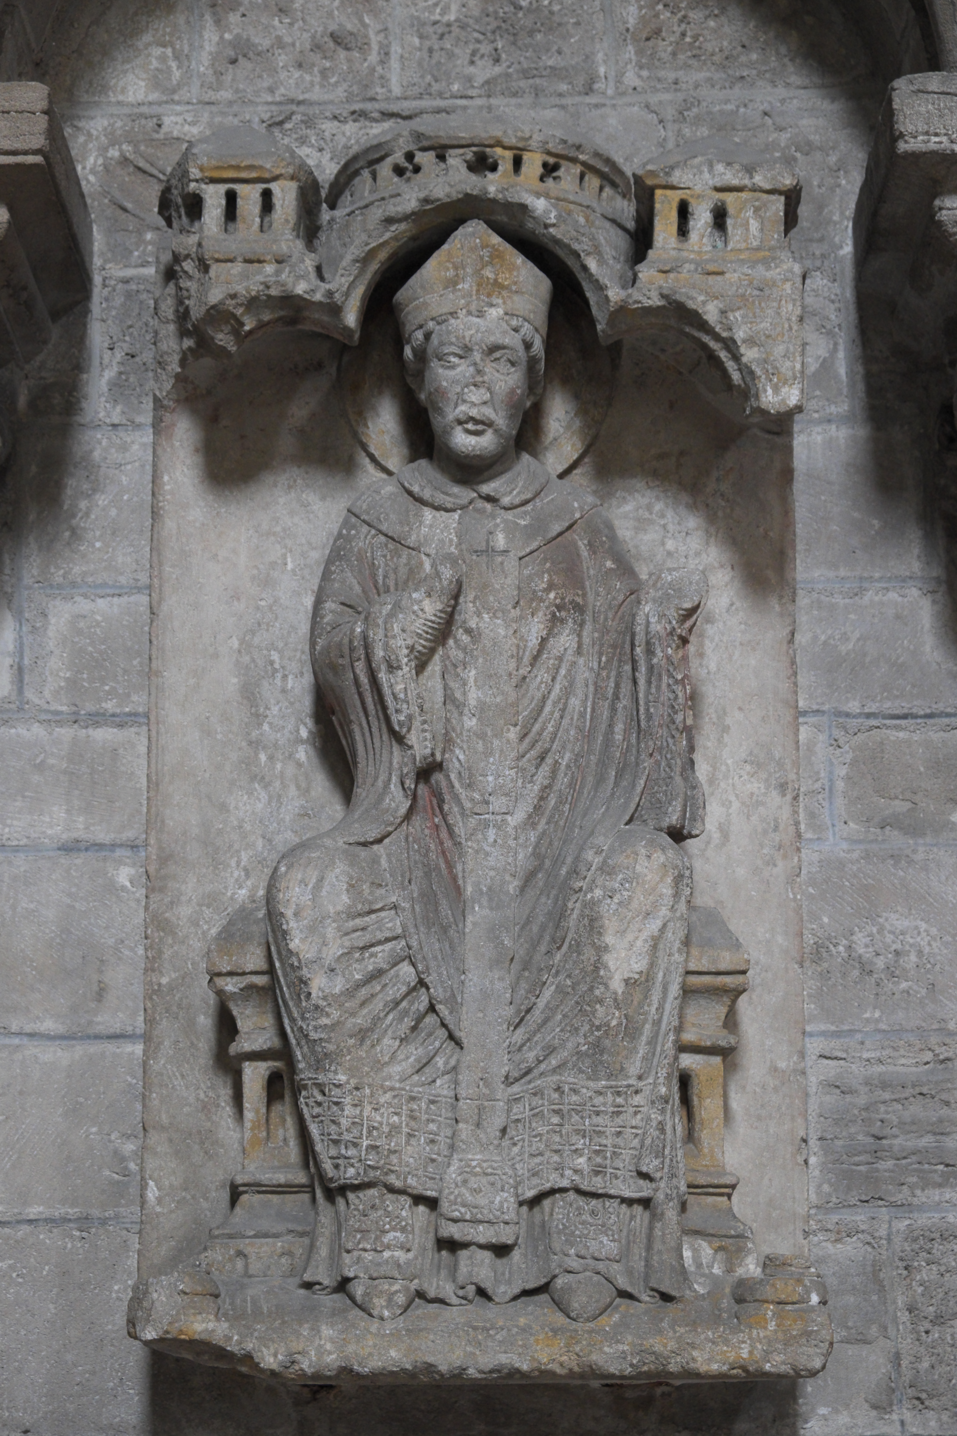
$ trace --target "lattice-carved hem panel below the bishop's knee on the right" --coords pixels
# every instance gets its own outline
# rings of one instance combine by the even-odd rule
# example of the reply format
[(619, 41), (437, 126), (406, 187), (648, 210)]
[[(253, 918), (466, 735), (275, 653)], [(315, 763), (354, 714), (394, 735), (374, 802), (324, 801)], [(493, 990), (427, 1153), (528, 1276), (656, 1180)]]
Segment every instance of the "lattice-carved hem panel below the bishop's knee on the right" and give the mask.
[(508, 1100), (506, 1155), (518, 1198), (575, 1188), (647, 1196), (637, 1163), (647, 1084), (550, 1081)]

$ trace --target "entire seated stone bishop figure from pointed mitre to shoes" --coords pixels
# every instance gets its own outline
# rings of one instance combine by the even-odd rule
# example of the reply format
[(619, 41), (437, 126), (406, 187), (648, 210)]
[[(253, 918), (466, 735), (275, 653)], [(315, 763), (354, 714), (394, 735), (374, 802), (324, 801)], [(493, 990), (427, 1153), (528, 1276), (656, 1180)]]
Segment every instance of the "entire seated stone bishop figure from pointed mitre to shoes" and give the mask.
[(399, 290), (435, 449), (350, 505), (311, 628), (346, 817), (268, 887), (316, 1178), (303, 1281), (372, 1317), (686, 1292), (677, 1024), (703, 827), (687, 643), (597, 500), (515, 448), (548, 279), (481, 221)]

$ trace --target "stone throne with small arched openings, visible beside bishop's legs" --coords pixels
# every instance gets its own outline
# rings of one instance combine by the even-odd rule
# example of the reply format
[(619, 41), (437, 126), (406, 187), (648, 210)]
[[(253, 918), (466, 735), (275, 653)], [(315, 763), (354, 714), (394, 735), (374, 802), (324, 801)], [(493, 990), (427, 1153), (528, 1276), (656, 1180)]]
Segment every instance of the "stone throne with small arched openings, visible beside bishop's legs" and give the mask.
[[(726, 1028), (748, 989), (749, 959), (713, 908), (692, 908), (680, 1030), (687, 1203), (684, 1259), (707, 1290), (715, 1274), (758, 1274), (750, 1229), (732, 1206), (725, 1170), (725, 1061), (737, 1045)], [(263, 903), (240, 908), (209, 943), (209, 988), (237, 1035), (242, 1167), (230, 1182), (228, 1221), (209, 1234), (199, 1265), (222, 1277), (294, 1277), (311, 1236), (313, 1175), (293, 1100), (293, 1068), (280, 1021)]]

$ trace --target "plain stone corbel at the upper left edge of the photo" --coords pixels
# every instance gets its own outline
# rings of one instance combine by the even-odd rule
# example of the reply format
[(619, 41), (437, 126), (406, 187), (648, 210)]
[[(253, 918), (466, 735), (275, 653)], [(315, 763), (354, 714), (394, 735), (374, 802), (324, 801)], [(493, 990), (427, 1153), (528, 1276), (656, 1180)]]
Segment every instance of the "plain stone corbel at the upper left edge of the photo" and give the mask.
[[(90, 293), (93, 227), (50, 92), (0, 85), (0, 369), (24, 368)], [(0, 464), (13, 442), (0, 414)]]

